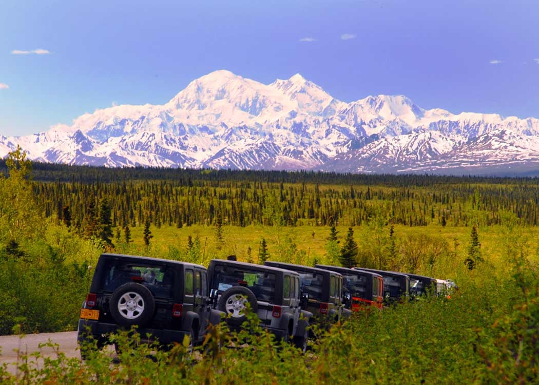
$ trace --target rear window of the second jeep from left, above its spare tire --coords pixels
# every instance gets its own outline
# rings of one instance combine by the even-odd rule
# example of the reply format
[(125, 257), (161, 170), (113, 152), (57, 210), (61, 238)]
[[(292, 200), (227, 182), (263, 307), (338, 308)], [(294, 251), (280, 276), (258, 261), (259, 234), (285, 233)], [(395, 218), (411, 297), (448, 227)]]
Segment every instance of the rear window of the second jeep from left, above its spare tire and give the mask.
[[(274, 273), (248, 271), (236, 266), (216, 265), (213, 269), (212, 288), (222, 293), (232, 286), (247, 287), (260, 301), (273, 302), (275, 299)], [(288, 287), (290, 287), (290, 281), (288, 281)]]

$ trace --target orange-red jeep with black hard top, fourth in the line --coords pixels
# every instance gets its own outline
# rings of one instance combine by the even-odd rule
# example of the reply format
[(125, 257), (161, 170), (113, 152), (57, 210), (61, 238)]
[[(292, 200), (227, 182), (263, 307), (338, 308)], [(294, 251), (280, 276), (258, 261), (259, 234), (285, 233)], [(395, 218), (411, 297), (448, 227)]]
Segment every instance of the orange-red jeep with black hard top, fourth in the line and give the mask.
[(355, 312), (360, 311), (364, 305), (382, 308), (384, 280), (380, 274), (340, 266), (315, 265), (314, 267), (341, 274), (344, 298), (347, 299), (346, 308)]

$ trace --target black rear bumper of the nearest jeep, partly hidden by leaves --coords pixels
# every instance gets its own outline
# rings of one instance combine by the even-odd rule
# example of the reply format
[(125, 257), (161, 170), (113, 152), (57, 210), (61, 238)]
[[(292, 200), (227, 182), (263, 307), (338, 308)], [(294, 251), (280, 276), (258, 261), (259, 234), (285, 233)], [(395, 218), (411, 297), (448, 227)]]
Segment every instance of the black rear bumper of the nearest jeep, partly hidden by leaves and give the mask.
[[(88, 338), (88, 328), (89, 333), (93, 336), (94, 339), (101, 339), (103, 334), (116, 333), (123, 329), (121, 326), (115, 324), (107, 324), (105, 322), (99, 322), (94, 320), (84, 320), (79, 319), (79, 328), (77, 333), (77, 341), (82, 342)], [(183, 341), (185, 335), (189, 335), (189, 332), (183, 330), (171, 330), (171, 329), (150, 329), (150, 328), (137, 328), (137, 332), (141, 336), (146, 336), (150, 334), (152, 338), (155, 338), (160, 343), (168, 345), (172, 342)]]

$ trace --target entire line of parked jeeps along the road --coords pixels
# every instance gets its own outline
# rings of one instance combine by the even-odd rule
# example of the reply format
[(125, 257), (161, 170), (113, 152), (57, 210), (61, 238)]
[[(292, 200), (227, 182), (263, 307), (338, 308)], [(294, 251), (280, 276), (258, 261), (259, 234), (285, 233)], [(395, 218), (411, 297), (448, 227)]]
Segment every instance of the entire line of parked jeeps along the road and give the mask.
[[(83, 359), (109, 335), (136, 326), (163, 347), (189, 338), (204, 341), (210, 325), (242, 327), (246, 308), (278, 340), (302, 352), (315, 337), (310, 325), (329, 328), (365, 307), (419, 295), (446, 295), (452, 281), (381, 270), (314, 267), (266, 261), (212, 259), (204, 266), (174, 260), (105, 253), (95, 266), (80, 311), (78, 342)], [(88, 343), (96, 341), (96, 345)], [(118, 349), (118, 347), (116, 347)]]

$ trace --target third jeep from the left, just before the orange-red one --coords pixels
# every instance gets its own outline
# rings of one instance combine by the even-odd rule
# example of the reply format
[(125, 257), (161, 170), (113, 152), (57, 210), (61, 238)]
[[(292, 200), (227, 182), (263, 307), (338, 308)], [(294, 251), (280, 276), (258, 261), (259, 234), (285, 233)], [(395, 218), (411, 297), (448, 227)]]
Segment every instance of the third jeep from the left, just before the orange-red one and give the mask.
[(313, 313), (314, 320), (336, 322), (350, 316), (351, 312), (345, 309), (342, 303), (341, 274), (316, 267), (269, 260), (264, 262), (264, 265), (292, 270), (299, 274), (300, 290), (305, 297), (302, 308)]

